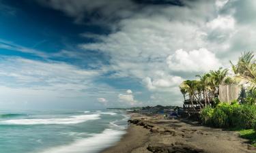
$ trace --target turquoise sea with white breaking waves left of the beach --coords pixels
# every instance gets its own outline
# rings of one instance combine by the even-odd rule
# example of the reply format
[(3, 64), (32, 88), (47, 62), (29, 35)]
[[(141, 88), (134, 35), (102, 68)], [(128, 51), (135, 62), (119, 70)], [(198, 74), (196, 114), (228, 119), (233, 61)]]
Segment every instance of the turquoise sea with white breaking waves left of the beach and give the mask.
[(0, 153), (96, 153), (126, 133), (119, 110), (0, 113)]

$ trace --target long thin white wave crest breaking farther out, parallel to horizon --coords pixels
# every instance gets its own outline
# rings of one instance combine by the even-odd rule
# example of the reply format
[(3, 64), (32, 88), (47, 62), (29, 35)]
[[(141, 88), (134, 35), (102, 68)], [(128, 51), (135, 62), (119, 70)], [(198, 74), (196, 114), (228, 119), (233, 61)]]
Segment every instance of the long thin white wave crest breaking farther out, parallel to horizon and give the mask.
[(2, 120), (0, 124), (20, 124), (20, 125), (35, 125), (35, 124), (78, 124), (87, 120), (98, 120), (100, 114), (70, 116), (70, 118), (31, 118), (17, 120)]

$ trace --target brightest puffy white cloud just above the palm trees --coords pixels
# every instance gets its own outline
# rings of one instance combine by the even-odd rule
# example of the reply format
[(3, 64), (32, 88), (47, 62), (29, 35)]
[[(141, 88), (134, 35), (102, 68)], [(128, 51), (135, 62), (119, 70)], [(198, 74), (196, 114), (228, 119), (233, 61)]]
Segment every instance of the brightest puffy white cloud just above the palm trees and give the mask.
[(176, 50), (168, 56), (167, 64), (172, 71), (194, 71), (203, 72), (221, 67), (221, 61), (216, 58), (213, 52), (205, 48), (199, 50)]

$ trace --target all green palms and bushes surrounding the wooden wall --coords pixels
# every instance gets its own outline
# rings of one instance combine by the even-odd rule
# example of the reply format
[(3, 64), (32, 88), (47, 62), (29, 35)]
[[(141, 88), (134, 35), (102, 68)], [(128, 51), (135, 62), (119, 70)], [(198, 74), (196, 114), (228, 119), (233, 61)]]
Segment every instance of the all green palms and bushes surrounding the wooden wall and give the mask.
[[(235, 129), (240, 132), (240, 137), (249, 139), (256, 147), (256, 59), (253, 52), (244, 52), (238, 58), (238, 63), (231, 63), (231, 69), (235, 74), (232, 77), (227, 76), (227, 69), (220, 68), (197, 75), (199, 80), (182, 82), (180, 90), (184, 97), (189, 95), (192, 105), (201, 106), (200, 118), (203, 124)], [(218, 99), (219, 85), (238, 83), (247, 86), (241, 92), (240, 99), (231, 104)], [(201, 105), (201, 99), (205, 101), (205, 105)]]

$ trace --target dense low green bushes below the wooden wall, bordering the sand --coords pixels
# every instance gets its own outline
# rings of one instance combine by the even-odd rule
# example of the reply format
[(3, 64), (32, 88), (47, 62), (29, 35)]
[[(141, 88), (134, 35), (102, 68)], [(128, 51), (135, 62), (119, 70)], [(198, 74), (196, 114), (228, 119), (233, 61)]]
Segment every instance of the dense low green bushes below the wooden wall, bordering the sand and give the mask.
[(238, 127), (256, 129), (256, 105), (231, 105), (220, 103), (215, 108), (206, 107), (201, 111), (203, 124), (221, 128)]

